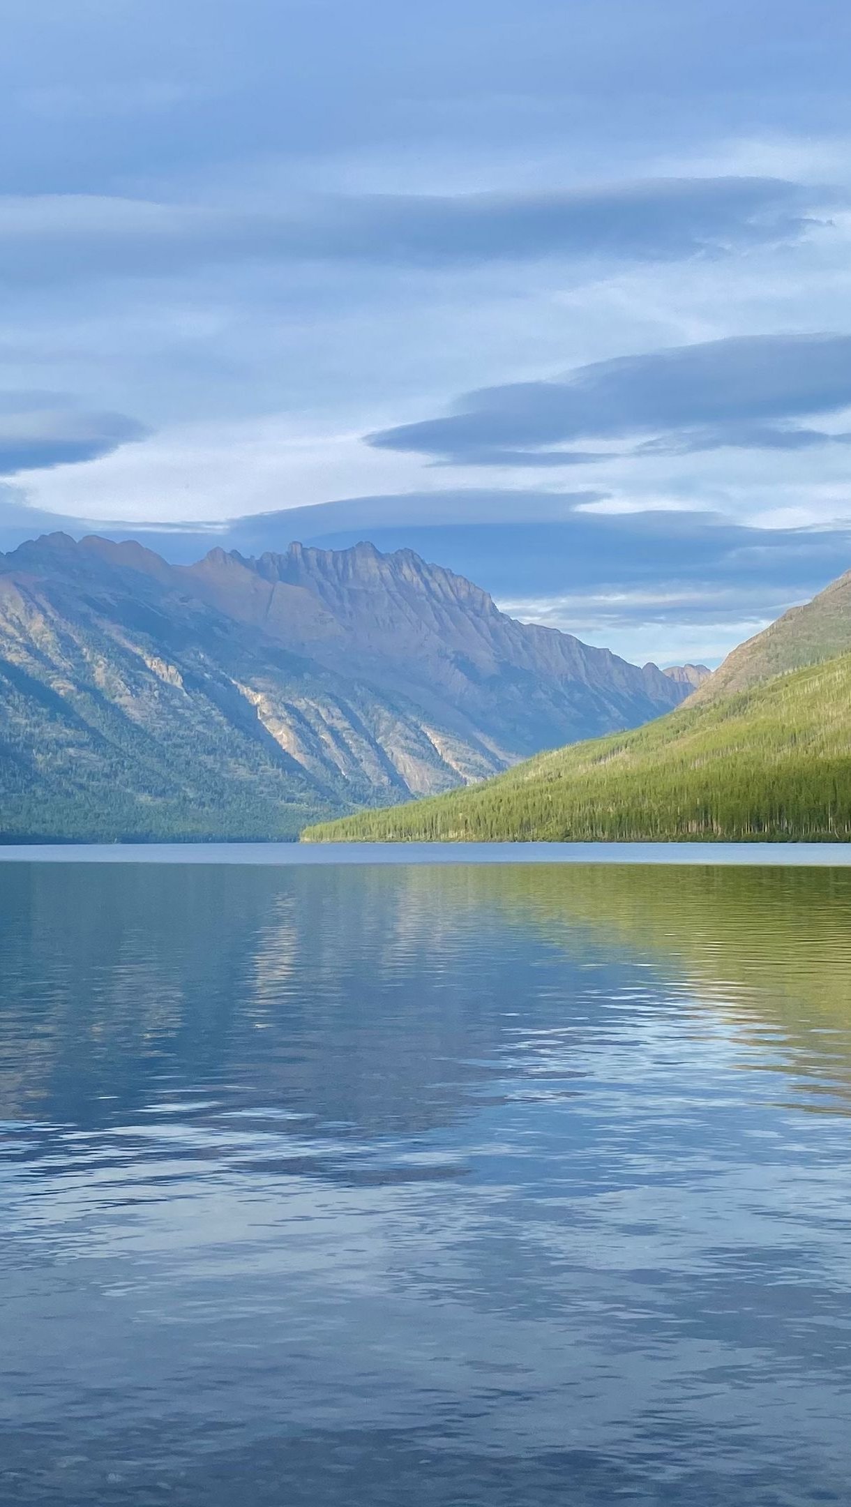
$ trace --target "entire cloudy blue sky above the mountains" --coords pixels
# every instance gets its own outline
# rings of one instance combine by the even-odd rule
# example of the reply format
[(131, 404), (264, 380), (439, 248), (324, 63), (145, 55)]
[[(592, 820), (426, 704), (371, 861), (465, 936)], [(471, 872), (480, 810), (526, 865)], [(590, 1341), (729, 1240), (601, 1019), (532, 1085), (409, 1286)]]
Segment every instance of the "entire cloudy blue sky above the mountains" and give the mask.
[(715, 663), (851, 567), (837, 0), (5, 0), (0, 547), (408, 544)]

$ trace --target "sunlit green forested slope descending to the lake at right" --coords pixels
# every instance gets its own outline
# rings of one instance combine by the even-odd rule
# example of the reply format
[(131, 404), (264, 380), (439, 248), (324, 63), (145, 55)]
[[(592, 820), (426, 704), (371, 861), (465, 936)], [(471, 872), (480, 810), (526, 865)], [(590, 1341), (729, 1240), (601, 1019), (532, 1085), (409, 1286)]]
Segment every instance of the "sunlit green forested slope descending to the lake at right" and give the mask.
[(851, 839), (851, 654), (303, 841)]

